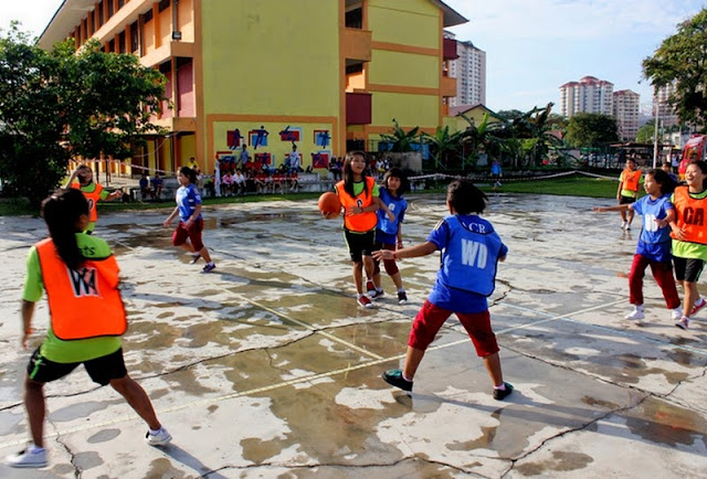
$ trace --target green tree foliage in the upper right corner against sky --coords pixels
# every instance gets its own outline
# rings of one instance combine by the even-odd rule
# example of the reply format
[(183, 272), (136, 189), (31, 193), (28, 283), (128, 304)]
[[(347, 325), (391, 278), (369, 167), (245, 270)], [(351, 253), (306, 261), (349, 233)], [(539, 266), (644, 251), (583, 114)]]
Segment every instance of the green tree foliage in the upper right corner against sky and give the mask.
[(656, 88), (675, 86), (668, 103), (683, 123), (707, 126), (707, 9), (678, 24), (643, 61), (643, 75)]

